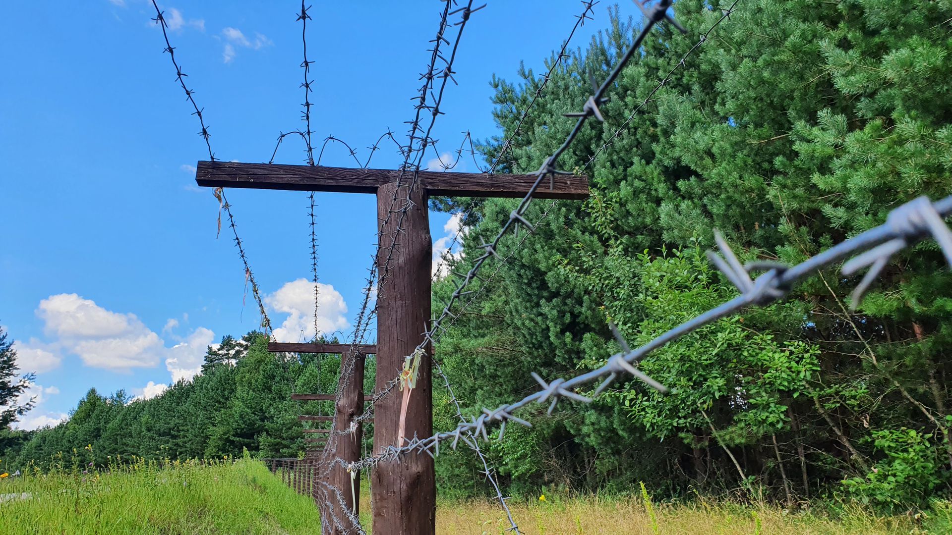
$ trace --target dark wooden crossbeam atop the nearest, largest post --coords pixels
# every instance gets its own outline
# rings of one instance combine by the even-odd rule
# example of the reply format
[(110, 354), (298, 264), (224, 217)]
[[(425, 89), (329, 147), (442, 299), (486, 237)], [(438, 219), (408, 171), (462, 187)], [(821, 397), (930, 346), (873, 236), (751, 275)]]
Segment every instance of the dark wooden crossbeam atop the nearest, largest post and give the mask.
[[(408, 183), (410, 173), (403, 173)], [(394, 169), (326, 168), (238, 162), (199, 162), (195, 182), (210, 188), (285, 189), (293, 191), (339, 191), (376, 193), (377, 188), (396, 182), (401, 171)], [(418, 184), (427, 195), (457, 197), (523, 197), (535, 184), (534, 174), (486, 174), (474, 172), (420, 171)], [(555, 176), (552, 188), (546, 177), (536, 190), (537, 199), (585, 199), (588, 178)]]

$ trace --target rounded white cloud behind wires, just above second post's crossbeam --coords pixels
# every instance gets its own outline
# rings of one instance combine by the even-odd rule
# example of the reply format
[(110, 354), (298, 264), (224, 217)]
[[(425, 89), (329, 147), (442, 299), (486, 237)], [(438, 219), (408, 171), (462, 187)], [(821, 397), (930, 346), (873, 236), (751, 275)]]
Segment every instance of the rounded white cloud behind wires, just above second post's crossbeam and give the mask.
[[(334, 287), (318, 283), (317, 330), (321, 333), (349, 327), (347, 304)], [(265, 303), (275, 312), (288, 314), (281, 327), (274, 329), (279, 342), (299, 342), (314, 337), (314, 284), (307, 279), (286, 283), (265, 297)]]

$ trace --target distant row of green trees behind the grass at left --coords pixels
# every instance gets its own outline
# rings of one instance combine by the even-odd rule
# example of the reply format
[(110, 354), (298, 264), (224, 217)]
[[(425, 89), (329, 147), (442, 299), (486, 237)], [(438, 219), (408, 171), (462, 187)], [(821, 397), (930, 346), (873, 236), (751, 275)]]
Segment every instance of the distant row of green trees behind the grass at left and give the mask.
[[(373, 363), (368, 363), (373, 377)], [(110, 458), (201, 459), (241, 455), (297, 457), (305, 449), (299, 414), (333, 413), (332, 402), (291, 401), (292, 392), (333, 392), (338, 355), (274, 355), (258, 332), (208, 347), (202, 373), (162, 394), (132, 399), (92, 389), (69, 421), (33, 432), (0, 431), (5, 469), (50, 466), (74, 450), (107, 466)], [(372, 381), (370, 383), (372, 385)]]

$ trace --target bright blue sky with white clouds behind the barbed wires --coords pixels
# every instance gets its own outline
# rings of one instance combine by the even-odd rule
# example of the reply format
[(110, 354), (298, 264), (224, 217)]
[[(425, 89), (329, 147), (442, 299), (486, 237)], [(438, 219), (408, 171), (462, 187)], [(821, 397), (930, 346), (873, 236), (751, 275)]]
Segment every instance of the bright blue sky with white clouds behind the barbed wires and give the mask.
[[(403, 134), (441, 5), (313, 2), (315, 140), (332, 134), (363, 159), (387, 128)], [(216, 157), (267, 162), (279, 131), (303, 128), (300, 4), (160, 7)], [(582, 9), (577, 0), (492, 0), (473, 14), (455, 63), (460, 85), (447, 89), (434, 130), (441, 152), (456, 149), (464, 130), (496, 133), (492, 74), (515, 79), (521, 60), (541, 71)], [(606, 9), (596, 7), (574, 46), (607, 24)], [(217, 202), (194, 185), (193, 167), (208, 154), (151, 3), (18, 2), (6, 11), (0, 325), (16, 340), (20, 367), (38, 372), (31, 394), (40, 404), (19, 424), (31, 428), (58, 421), (92, 386), (154, 394), (190, 376), (209, 343), (257, 327), (259, 316), (231, 240), (224, 231), (215, 238)], [(288, 138), (275, 162), (301, 164), (302, 150)], [(371, 167), (400, 162), (387, 148)], [(330, 146), (322, 163), (352, 160)], [(228, 200), (269, 315), (297, 341), (312, 310), (300, 281), (310, 277), (307, 195), (232, 189)], [(320, 193), (317, 204), (321, 328), (346, 336), (373, 253), (375, 200)], [(451, 231), (448, 219), (431, 214), (434, 241)]]

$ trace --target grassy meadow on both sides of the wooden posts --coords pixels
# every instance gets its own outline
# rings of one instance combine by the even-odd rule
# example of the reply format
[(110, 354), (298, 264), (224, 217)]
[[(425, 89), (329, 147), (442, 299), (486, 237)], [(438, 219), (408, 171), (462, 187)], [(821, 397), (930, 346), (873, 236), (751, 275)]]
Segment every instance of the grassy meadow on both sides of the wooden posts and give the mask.
[[(948, 533), (952, 506), (935, 504), (919, 517), (881, 517), (862, 507), (788, 513), (771, 505), (654, 503), (647, 491), (629, 496), (542, 495), (510, 503), (526, 535), (735, 534), (899, 535)], [(362, 521), (369, 528), (365, 493)], [(251, 459), (221, 462), (137, 460), (98, 470), (59, 466), (0, 479), (0, 533), (75, 535), (313, 534), (320, 517), (299, 495)], [(499, 505), (441, 501), (437, 533), (504, 534)]]

